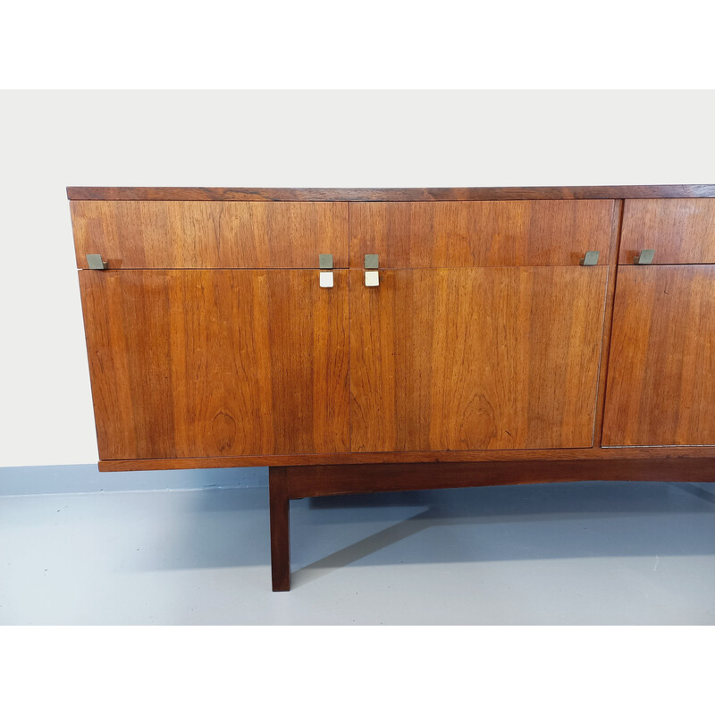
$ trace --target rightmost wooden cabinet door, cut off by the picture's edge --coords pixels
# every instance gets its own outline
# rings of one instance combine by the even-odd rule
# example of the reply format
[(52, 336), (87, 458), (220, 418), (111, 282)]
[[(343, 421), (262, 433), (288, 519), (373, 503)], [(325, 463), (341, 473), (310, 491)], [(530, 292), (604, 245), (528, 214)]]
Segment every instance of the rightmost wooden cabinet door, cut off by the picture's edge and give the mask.
[(715, 444), (715, 265), (618, 268), (604, 446)]

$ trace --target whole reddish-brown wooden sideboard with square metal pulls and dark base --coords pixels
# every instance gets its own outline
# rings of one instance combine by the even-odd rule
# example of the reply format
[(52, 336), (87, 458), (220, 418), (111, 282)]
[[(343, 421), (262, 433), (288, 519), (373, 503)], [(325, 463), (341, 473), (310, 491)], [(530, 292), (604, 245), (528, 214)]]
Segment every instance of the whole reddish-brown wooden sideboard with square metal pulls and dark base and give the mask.
[(70, 188), (103, 471), (715, 480), (715, 185)]

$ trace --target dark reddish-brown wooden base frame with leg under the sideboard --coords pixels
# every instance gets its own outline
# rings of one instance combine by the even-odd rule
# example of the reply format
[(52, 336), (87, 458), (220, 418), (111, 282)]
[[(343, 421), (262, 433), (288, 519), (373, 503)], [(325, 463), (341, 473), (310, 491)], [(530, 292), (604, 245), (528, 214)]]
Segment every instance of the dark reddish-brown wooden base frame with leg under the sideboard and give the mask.
[(549, 482), (715, 482), (715, 458), (568, 459), (269, 467), (273, 591), (290, 591), (290, 500)]

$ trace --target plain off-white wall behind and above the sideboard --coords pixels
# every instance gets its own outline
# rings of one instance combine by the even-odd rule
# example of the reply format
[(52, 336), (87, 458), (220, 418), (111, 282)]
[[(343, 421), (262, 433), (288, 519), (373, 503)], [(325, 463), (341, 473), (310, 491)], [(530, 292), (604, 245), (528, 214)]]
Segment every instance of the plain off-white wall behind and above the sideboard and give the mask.
[(0, 467), (97, 460), (68, 185), (715, 183), (713, 92), (0, 94)]

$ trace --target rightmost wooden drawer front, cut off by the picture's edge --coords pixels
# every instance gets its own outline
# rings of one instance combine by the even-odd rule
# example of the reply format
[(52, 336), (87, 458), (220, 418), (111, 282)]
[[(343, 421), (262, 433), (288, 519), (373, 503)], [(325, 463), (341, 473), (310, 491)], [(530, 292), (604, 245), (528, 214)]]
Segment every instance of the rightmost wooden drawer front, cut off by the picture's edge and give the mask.
[(715, 263), (715, 198), (628, 199), (618, 263), (648, 249), (654, 264)]

